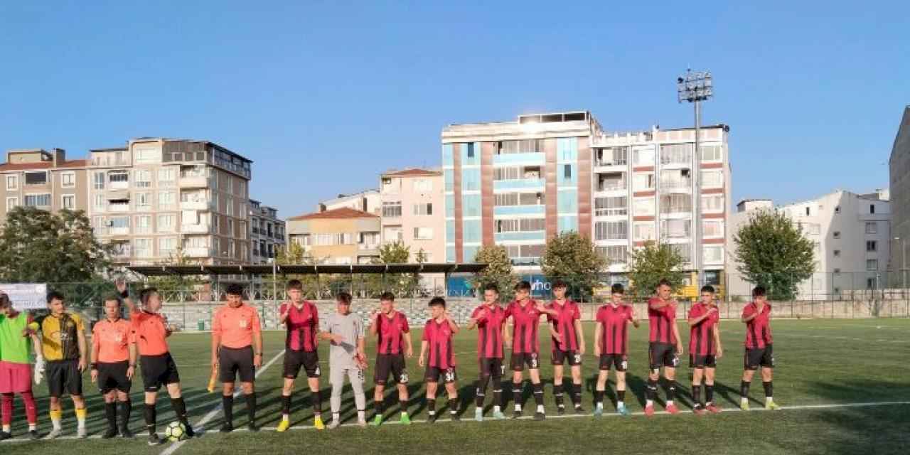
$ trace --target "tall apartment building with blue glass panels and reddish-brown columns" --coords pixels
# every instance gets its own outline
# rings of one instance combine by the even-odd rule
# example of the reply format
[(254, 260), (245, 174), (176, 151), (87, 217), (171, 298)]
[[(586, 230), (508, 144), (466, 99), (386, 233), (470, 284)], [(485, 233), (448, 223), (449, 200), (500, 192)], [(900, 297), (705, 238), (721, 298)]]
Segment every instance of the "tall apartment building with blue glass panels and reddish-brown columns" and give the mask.
[(591, 233), (588, 112), (519, 116), (442, 130), (448, 262), (470, 262), (481, 245), (503, 245), (533, 267), (547, 238)]

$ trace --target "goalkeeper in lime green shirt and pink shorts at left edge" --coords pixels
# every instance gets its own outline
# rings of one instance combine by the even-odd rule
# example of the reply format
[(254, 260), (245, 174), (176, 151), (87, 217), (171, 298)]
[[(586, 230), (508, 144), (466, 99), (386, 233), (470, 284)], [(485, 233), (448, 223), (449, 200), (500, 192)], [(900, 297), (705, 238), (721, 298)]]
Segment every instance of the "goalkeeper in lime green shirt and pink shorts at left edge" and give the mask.
[(0, 293), (0, 394), (3, 395), (3, 430), (0, 440), (13, 437), (13, 397), (18, 393), (25, 402), (29, 438), (38, 439), (38, 413), (32, 395), (32, 371), (29, 365), (29, 339), (35, 351), (35, 382), (40, 383), (45, 372), (41, 356), (41, 339), (35, 333), (37, 323), (31, 315), (16, 311), (9, 297)]

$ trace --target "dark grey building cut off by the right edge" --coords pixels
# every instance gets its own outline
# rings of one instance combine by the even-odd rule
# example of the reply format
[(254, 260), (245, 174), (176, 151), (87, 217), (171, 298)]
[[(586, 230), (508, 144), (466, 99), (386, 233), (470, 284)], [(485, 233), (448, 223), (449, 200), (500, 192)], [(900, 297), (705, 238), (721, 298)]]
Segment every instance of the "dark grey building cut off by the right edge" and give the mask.
[(895, 143), (888, 159), (888, 174), (893, 203), (891, 229), (895, 238), (898, 238), (890, 247), (894, 261), (890, 269), (901, 270), (905, 264), (910, 264), (905, 260), (907, 250), (903, 249), (910, 243), (910, 106), (905, 106), (904, 116), (897, 126)]

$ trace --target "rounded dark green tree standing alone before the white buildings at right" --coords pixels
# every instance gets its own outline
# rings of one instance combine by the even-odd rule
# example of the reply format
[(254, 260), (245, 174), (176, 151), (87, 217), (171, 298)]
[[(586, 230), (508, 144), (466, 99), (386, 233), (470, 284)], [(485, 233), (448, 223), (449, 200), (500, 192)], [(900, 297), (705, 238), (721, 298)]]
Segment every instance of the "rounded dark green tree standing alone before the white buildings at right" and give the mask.
[(736, 270), (768, 289), (772, 300), (792, 300), (815, 270), (814, 246), (793, 220), (778, 210), (759, 210), (733, 236)]

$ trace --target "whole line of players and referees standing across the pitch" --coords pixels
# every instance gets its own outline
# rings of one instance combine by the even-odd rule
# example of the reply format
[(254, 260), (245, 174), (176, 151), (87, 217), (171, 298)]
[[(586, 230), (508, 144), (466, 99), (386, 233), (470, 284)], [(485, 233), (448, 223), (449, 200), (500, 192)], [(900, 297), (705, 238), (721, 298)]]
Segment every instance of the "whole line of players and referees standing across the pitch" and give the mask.
[[(32, 370), (28, 362), (31, 341), (37, 360), (35, 381), (45, 376), (50, 394), (50, 418), (53, 430), (47, 435), (53, 439), (61, 434), (60, 397), (66, 392), (76, 409), (77, 435), (86, 437), (86, 408), (82, 394), (82, 371), (90, 367), (91, 379), (97, 383), (106, 402), (108, 430), (104, 438), (117, 434), (132, 437), (127, 427), (131, 412), (129, 390), (136, 372), (138, 360), (145, 386), (145, 420), (149, 444), (159, 443), (157, 437), (157, 392), (167, 389), (171, 404), (178, 420), (186, 427), (187, 436), (193, 437), (194, 430), (187, 420), (186, 405), (181, 398), (180, 379), (177, 364), (169, 353), (167, 337), (171, 328), (159, 313), (161, 299), (154, 288), (139, 293), (142, 308), (139, 309), (129, 297), (126, 283), (118, 281), (116, 287), (120, 296), (106, 299), (106, 319), (98, 321), (91, 343), (91, 363), (86, 363), (88, 347), (82, 320), (76, 314), (66, 312), (63, 296), (51, 293), (48, 296), (50, 314), (32, 320), (29, 315), (16, 313), (9, 298), (0, 294), (0, 393), (3, 394), (3, 431), (0, 440), (11, 437), (13, 394), (19, 393), (25, 401), (29, 434), (37, 438), (35, 401), (31, 392)], [(256, 369), (262, 366), (261, 324), (256, 308), (244, 304), (243, 289), (237, 285), (227, 288), (227, 304), (217, 309), (212, 322), (212, 369), (213, 379), (222, 382), (224, 411), (223, 432), (233, 430), (233, 400), (235, 384), (246, 400), (249, 430), (256, 426)], [(662, 281), (656, 288), (656, 296), (648, 302), (649, 319), (649, 362), (650, 370), (645, 389), (645, 415), (654, 413), (660, 372), (669, 386), (667, 388), (666, 410), (679, 412), (673, 404), (676, 394), (675, 369), (682, 354), (682, 339), (676, 326), (677, 302), (671, 298), (672, 288)], [(540, 343), (538, 329), (541, 316), (546, 315), (551, 334), (551, 363), (553, 365), (554, 396), (559, 413), (565, 411), (563, 399), (563, 366), (571, 368), (571, 385), (565, 387), (576, 412), (581, 407), (581, 359), (585, 355), (584, 330), (581, 325), (581, 311), (574, 301), (566, 298), (566, 286), (557, 281), (553, 285), (555, 299), (548, 304), (531, 299), (531, 286), (522, 281), (515, 288), (515, 300), (506, 307), (499, 302), (499, 290), (495, 285), (484, 288), (484, 302), (475, 308), (466, 329), (477, 329), (477, 357), (480, 364), (480, 378), (476, 392), (475, 420), (483, 420), (483, 404), (490, 383), (493, 387), (493, 417), (504, 419), (502, 406), (502, 377), (505, 375), (504, 347), (511, 345), (512, 393), (514, 395), (513, 417), (521, 416), (521, 395), (523, 372), (529, 371), (533, 396), (537, 405), (535, 420), (545, 418), (543, 407), (543, 386), (540, 375)], [(364, 371), (367, 357), (364, 349), (366, 332), (378, 339), (377, 358), (374, 368), (375, 416), (371, 425), (383, 420), (384, 392), (393, 379), (399, 396), (400, 421), (410, 423), (408, 414), (409, 377), (406, 358), (411, 358), (413, 349), (408, 319), (394, 308), (394, 296), (385, 293), (380, 298), (379, 310), (370, 316), (369, 327), (363, 327), (362, 320), (351, 313), (351, 297), (347, 293), (338, 295), (337, 311), (325, 319), (319, 318), (317, 307), (303, 298), (303, 287), (298, 280), (288, 282), (290, 300), (279, 308), (280, 322), (287, 329), (285, 341), (284, 384), (282, 388), (282, 419), (278, 431), (288, 430), (290, 425), (291, 395), (300, 369), (308, 377), (308, 386), (313, 395), (315, 412), (314, 426), (325, 428), (321, 420), (319, 393), (319, 340), (329, 341), (329, 380), (332, 386), (330, 406), (332, 420), (329, 428), (339, 425), (341, 389), (345, 377), (354, 390), (358, 410), (358, 423), (366, 426), (366, 397), (364, 395)], [(714, 290), (702, 288), (701, 300), (694, 304), (688, 315), (691, 326), (689, 343), (690, 367), (693, 368), (693, 410), (702, 414), (706, 411), (720, 412), (713, 403), (713, 379), (716, 360), (723, 356), (718, 310)], [(120, 317), (121, 300), (130, 310), (131, 319)], [(446, 310), (443, 298), (430, 300), (430, 320), (427, 321), (421, 339), (418, 363), (425, 367), (426, 399), (429, 421), (437, 419), (436, 396), (440, 381), (448, 395), (448, 408), (453, 420), (459, 419), (459, 399), (456, 381), (455, 353), (452, 339), (460, 330), (459, 325)], [(765, 391), (765, 407), (777, 409), (773, 402), (772, 373), (773, 351), (769, 325), (771, 306), (765, 299), (764, 289), (753, 289), (753, 302), (743, 309), (742, 320), (746, 324), (743, 381), (741, 383), (742, 408), (748, 409), (748, 389), (753, 373), (761, 367)], [(511, 320), (511, 327), (508, 323)], [(624, 405), (625, 371), (628, 369), (628, 326), (639, 327), (632, 306), (624, 302), (622, 285), (613, 285), (611, 301), (597, 310), (594, 332), (594, 356), (599, 360), (600, 372), (595, 386), (594, 415), (603, 412), (603, 397), (608, 374), (616, 371), (617, 412), (628, 415)], [(46, 367), (45, 367), (46, 360)], [(702, 398), (701, 389), (704, 388)], [(119, 405), (119, 425), (117, 407)]]

